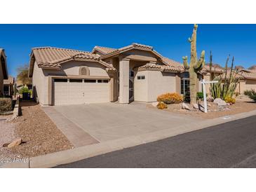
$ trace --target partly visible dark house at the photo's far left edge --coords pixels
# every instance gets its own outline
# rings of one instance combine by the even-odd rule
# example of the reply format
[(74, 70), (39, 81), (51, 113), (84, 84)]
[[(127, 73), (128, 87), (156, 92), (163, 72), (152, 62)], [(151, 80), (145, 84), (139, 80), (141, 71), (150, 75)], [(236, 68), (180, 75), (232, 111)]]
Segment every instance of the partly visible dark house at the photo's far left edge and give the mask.
[(6, 54), (4, 49), (0, 48), (0, 97), (4, 96), (4, 79), (8, 78)]

